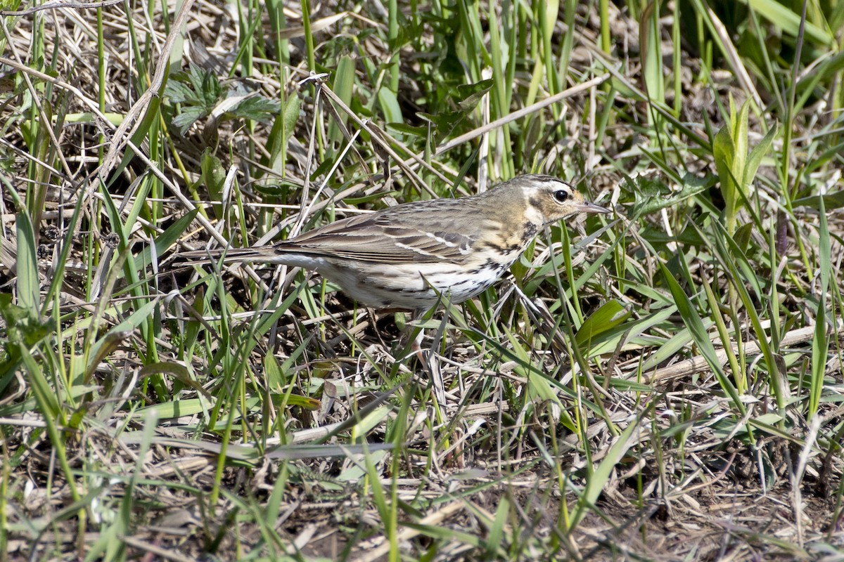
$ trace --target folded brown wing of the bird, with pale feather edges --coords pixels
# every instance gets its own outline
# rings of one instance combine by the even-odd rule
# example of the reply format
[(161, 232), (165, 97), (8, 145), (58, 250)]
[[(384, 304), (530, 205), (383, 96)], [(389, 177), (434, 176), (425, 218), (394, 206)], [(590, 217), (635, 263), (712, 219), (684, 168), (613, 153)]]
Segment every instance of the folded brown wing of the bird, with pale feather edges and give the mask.
[(462, 263), (471, 253), (480, 227), (476, 222), (456, 225), (453, 217), (441, 215), (447, 206), (431, 205), (436, 201), (332, 222), (279, 242), (273, 249), (384, 264)]

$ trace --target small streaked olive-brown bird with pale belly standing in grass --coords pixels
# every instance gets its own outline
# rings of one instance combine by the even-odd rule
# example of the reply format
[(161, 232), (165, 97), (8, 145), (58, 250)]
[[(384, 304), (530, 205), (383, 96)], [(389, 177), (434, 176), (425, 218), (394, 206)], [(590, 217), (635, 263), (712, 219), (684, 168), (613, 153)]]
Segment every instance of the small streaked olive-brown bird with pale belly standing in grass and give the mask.
[(193, 250), (182, 259), (315, 270), (372, 308), (425, 313), (467, 301), (498, 281), (545, 225), (607, 214), (562, 179), (527, 174), (477, 195), (414, 201), (330, 222), (275, 244)]

